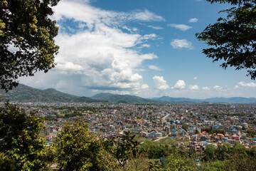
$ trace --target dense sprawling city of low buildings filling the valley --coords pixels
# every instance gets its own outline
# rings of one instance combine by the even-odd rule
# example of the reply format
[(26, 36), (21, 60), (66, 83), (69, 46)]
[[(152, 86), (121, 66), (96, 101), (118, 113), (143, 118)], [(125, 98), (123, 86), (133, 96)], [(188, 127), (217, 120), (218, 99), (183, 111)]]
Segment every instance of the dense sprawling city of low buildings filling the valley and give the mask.
[[(21, 105), (21, 104), (19, 104)], [(129, 131), (142, 140), (175, 140), (177, 146), (204, 150), (207, 145), (239, 142), (256, 146), (255, 104), (24, 103), (26, 113), (46, 119), (48, 145), (63, 124), (82, 119), (91, 133), (115, 139)], [(255, 138), (254, 138), (255, 137)]]

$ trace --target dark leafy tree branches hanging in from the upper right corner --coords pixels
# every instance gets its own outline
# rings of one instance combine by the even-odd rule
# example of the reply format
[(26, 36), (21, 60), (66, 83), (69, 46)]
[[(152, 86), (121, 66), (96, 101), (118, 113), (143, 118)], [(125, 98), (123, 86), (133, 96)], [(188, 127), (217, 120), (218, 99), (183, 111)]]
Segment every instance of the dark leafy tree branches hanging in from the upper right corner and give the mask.
[(247, 69), (247, 76), (256, 78), (256, 1), (255, 0), (207, 0), (210, 3), (229, 3), (233, 6), (220, 12), (227, 18), (219, 18), (208, 25), (196, 37), (211, 48), (203, 49), (208, 58), (225, 61), (220, 66)]

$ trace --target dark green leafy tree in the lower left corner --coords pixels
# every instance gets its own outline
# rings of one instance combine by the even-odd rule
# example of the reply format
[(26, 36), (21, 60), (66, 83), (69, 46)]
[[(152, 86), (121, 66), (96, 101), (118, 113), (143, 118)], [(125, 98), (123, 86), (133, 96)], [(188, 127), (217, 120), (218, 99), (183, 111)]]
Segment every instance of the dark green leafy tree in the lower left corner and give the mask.
[(46, 170), (50, 157), (42, 121), (10, 103), (0, 108), (0, 170)]

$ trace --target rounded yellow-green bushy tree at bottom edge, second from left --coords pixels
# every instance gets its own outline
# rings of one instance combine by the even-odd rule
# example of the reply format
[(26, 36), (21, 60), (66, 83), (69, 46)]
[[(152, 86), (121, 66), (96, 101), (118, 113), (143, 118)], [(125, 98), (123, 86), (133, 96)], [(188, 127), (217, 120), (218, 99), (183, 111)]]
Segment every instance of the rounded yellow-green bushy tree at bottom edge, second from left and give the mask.
[(82, 120), (65, 125), (55, 143), (60, 170), (111, 170), (115, 163), (102, 138), (90, 133)]

